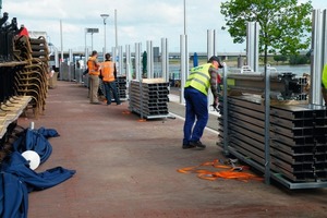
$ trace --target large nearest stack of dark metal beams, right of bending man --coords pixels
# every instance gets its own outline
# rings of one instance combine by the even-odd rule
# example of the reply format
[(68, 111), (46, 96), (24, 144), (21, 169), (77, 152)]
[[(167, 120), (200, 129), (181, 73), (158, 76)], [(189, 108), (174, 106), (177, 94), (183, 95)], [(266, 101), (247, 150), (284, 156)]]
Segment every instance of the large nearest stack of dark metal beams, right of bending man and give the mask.
[[(219, 137), (228, 128), (228, 150), (253, 167), (265, 169), (265, 106), (259, 96), (228, 97), (228, 114), (219, 118)], [(220, 110), (223, 111), (223, 110)], [(228, 126), (223, 126), (228, 119)], [(276, 105), (270, 107), (271, 175), (306, 187), (326, 186), (327, 111), (323, 106)], [(314, 183), (314, 185), (313, 185)], [(315, 186), (316, 185), (316, 186)]]

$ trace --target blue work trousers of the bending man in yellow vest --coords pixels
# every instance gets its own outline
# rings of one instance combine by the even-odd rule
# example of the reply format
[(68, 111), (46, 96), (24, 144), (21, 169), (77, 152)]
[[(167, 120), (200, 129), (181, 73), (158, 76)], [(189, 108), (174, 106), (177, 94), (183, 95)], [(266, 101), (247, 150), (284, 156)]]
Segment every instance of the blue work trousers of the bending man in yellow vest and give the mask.
[[(208, 98), (199, 90), (187, 87), (184, 89), (186, 102), (183, 144), (197, 142), (208, 122)], [(196, 119), (196, 122), (195, 122)], [(195, 122), (195, 125), (194, 125)], [(193, 128), (194, 125), (194, 128)]]

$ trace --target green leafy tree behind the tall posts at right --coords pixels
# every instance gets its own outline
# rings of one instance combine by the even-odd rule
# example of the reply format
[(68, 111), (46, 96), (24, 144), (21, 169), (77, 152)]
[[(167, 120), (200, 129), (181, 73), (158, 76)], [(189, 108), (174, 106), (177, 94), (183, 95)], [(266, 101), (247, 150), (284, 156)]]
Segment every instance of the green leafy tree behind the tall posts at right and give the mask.
[(312, 9), (311, 0), (305, 3), (298, 0), (229, 0), (221, 3), (233, 43), (245, 41), (249, 22), (259, 24), (259, 52), (264, 52), (265, 65), (268, 52), (298, 55), (308, 48)]

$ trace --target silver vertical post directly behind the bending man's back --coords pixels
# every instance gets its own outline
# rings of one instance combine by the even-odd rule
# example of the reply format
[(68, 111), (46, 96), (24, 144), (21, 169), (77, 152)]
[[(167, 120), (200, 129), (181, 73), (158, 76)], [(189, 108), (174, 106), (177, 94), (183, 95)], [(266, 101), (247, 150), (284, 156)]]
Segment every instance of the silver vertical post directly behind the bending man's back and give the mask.
[(189, 51), (187, 51), (187, 35), (180, 36), (181, 47), (181, 95), (180, 102), (184, 104), (184, 87), (189, 76)]

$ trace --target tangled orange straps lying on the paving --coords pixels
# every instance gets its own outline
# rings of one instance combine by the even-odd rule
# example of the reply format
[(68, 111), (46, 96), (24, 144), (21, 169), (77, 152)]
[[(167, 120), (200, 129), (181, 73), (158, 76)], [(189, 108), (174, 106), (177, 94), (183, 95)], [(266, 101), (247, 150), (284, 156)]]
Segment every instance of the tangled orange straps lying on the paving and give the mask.
[[(226, 166), (226, 165), (220, 165), (218, 164), (219, 161), (216, 159), (214, 161), (208, 161), (204, 162), (199, 166), (196, 167), (185, 167), (178, 169), (178, 172), (181, 173), (197, 173), (197, 177), (203, 180), (209, 180), (209, 181), (215, 181), (219, 178), (222, 179), (234, 179), (234, 180), (241, 180), (243, 182), (247, 182), (249, 180), (257, 180), (257, 181), (263, 181), (263, 178), (259, 178), (253, 173), (250, 172), (243, 172), (243, 171), (235, 171), (237, 169), (249, 169), (249, 167), (242, 166), (239, 168), (233, 168), (231, 166)], [(223, 169), (221, 171), (210, 171), (206, 169), (198, 169), (199, 167), (214, 167), (214, 168), (219, 168)]]

